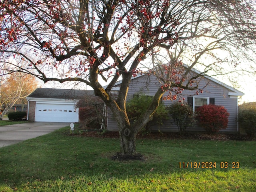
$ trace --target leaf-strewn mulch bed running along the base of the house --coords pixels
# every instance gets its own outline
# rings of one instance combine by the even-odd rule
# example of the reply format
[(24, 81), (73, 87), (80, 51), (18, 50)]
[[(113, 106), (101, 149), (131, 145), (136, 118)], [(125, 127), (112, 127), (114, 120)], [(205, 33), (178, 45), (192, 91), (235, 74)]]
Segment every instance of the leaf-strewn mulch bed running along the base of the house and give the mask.
[[(84, 131), (82, 136), (86, 137), (100, 137), (100, 138), (119, 138), (118, 132), (105, 132), (100, 134), (98, 131)], [(198, 140), (237, 140), (237, 141), (247, 141), (256, 140), (256, 138), (250, 138), (242, 134), (230, 134), (230, 133), (216, 133), (216, 134), (206, 134), (206, 133), (185, 133), (180, 135), (175, 132), (150, 132), (150, 133), (139, 133), (136, 138), (149, 138), (149, 139), (198, 139)]]

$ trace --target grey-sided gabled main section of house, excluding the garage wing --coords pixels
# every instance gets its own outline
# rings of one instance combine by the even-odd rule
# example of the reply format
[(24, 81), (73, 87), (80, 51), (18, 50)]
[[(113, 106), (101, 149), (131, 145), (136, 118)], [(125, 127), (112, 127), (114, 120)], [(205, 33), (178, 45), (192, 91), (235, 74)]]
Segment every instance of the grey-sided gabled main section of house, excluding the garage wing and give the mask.
[[(197, 70), (193, 70), (192, 73), (201, 74)], [(117, 93), (122, 80), (117, 82), (114, 86), (114, 93)], [(143, 93), (148, 96), (154, 96), (159, 86), (161, 86), (155, 76), (139, 75), (132, 78), (128, 90), (127, 100), (133, 98), (136, 94)], [(200, 93), (199, 90), (203, 89)], [(196, 94), (199, 91), (199, 94)], [(164, 94), (167, 96), (168, 94)], [(243, 96), (244, 93), (228, 86), (214, 78), (203, 77), (198, 82), (198, 90), (184, 90), (181, 97), (185, 98), (187, 102), (195, 111), (196, 108), (204, 104), (215, 104), (224, 106), (228, 113), (230, 114), (228, 118), (228, 127), (220, 131), (223, 132), (238, 132), (237, 114), (238, 114), (238, 99)], [(164, 105), (170, 106), (173, 102), (171, 100), (163, 100)], [(112, 112), (108, 109), (108, 121), (107, 129), (112, 131), (117, 131), (118, 126), (114, 118), (112, 117)], [(151, 128), (153, 131), (160, 130), (162, 132), (178, 132), (178, 127), (172, 120), (166, 120), (163, 125), (155, 125)], [(188, 131), (204, 131), (200, 127), (187, 128)]]

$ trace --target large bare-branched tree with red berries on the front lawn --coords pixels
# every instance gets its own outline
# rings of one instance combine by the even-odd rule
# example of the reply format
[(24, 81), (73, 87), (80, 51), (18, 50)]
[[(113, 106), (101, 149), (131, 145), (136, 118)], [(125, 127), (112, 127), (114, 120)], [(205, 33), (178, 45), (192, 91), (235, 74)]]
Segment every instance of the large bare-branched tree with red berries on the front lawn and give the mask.
[[(8, 72), (18, 68), (44, 82), (91, 86), (114, 113), (122, 154), (136, 153), (136, 134), (164, 93), (176, 99), (183, 89), (197, 89), (205, 74), (228, 73), (225, 63), (239, 67), (254, 54), (254, 0), (2, 0), (0, 12), (2, 60), (27, 62)], [(203, 73), (193, 76), (192, 68)], [(145, 73), (160, 86), (141, 120), (131, 124), (130, 80)]]

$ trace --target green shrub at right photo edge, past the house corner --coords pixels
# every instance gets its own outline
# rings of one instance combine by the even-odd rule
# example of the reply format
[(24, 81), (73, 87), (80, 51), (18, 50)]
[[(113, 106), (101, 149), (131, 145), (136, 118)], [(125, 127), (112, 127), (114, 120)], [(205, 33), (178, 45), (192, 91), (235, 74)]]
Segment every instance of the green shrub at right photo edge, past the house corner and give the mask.
[(238, 123), (240, 132), (248, 136), (256, 136), (256, 106), (254, 103), (244, 103), (238, 107)]

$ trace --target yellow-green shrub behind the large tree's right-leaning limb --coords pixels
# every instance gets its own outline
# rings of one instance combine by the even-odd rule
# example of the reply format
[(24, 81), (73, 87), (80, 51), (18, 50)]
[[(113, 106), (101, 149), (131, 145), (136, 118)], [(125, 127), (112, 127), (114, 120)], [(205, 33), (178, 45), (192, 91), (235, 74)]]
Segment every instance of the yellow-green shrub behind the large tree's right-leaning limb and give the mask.
[[(146, 112), (146, 110), (150, 106), (152, 99), (152, 97), (144, 94), (136, 94), (134, 98), (128, 101), (126, 103), (126, 112), (130, 121), (136, 122), (140, 120), (144, 112)], [(166, 107), (162, 103), (160, 103), (160, 105), (153, 114), (153, 119), (147, 123), (145, 129), (149, 130), (155, 124), (161, 125), (163, 124), (163, 120), (167, 118), (168, 111), (166, 110)]]

